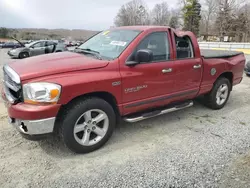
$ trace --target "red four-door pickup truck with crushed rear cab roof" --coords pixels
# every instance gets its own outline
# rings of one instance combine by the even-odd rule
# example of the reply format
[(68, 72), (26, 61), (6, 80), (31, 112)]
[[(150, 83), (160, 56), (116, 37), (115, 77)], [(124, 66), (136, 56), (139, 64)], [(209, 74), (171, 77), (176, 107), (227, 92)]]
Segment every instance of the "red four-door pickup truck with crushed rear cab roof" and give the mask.
[(108, 141), (120, 118), (132, 123), (184, 109), (198, 96), (223, 108), (244, 66), (243, 53), (200, 51), (191, 32), (119, 27), (73, 52), (5, 65), (2, 97), (25, 138), (56, 133), (86, 153)]

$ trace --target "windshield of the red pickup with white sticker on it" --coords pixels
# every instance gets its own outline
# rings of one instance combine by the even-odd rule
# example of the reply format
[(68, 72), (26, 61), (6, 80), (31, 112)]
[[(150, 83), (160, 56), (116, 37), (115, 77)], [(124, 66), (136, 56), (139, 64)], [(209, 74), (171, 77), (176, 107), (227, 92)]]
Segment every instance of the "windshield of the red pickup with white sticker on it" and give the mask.
[(96, 51), (102, 57), (115, 59), (140, 32), (137, 30), (103, 31), (83, 43), (78, 49)]

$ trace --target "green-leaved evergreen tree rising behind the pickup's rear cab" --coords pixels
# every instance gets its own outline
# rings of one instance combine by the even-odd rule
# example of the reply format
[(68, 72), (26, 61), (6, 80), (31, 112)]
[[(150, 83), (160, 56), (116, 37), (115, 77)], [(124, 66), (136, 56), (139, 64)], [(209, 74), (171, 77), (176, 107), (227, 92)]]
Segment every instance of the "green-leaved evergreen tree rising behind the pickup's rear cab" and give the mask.
[(201, 20), (201, 5), (198, 0), (186, 0), (182, 9), (184, 16), (184, 29), (199, 35)]

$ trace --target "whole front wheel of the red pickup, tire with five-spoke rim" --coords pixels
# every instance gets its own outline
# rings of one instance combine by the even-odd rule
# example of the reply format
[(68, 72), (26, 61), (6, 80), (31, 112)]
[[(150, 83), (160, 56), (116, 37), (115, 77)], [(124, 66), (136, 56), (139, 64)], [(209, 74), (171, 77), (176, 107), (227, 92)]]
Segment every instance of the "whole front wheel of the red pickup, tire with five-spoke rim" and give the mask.
[[(102, 117), (101, 114), (105, 119), (97, 121), (96, 117)], [(100, 98), (77, 100), (59, 118), (62, 118), (59, 124), (61, 139), (75, 153), (89, 153), (101, 148), (111, 137), (116, 124), (114, 109)]]

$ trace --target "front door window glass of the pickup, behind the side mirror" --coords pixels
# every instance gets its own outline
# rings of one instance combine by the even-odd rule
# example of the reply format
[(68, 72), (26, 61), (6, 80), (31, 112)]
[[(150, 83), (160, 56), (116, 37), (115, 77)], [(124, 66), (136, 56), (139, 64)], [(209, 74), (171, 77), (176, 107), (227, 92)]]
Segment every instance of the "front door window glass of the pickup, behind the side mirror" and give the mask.
[(155, 32), (146, 36), (137, 46), (131, 57), (132, 60), (134, 60), (135, 53), (142, 49), (148, 49), (153, 52), (153, 62), (169, 60), (170, 50), (167, 32)]

